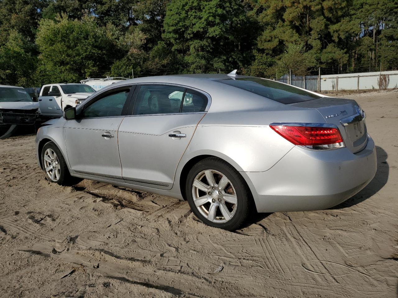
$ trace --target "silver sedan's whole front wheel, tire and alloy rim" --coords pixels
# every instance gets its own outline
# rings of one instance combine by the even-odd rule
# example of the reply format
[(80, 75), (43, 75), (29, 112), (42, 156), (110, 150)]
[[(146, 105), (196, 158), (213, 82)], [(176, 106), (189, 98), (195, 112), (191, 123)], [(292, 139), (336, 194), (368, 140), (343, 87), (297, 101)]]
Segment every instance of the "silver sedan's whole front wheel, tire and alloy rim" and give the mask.
[(72, 184), (72, 177), (69, 174), (64, 157), (53, 142), (44, 145), (41, 151), (41, 163), (47, 180), (59, 185)]

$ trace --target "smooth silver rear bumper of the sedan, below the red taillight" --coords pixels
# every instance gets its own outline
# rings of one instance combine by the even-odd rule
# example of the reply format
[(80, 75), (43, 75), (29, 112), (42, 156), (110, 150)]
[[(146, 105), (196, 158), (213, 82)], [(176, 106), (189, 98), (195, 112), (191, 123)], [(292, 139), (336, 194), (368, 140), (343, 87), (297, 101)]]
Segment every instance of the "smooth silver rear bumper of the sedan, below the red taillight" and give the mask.
[(310, 151), (295, 146), (265, 172), (241, 172), (258, 212), (328, 209), (362, 190), (375, 176), (375, 143), (358, 153), (347, 148)]

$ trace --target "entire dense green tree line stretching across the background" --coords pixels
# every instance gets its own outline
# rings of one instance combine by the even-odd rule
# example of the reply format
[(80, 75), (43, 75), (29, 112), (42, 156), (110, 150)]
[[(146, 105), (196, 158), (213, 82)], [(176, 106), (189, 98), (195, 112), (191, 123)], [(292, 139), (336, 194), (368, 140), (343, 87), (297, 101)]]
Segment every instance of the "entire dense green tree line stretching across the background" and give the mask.
[(0, 80), (398, 68), (396, 0), (0, 0)]

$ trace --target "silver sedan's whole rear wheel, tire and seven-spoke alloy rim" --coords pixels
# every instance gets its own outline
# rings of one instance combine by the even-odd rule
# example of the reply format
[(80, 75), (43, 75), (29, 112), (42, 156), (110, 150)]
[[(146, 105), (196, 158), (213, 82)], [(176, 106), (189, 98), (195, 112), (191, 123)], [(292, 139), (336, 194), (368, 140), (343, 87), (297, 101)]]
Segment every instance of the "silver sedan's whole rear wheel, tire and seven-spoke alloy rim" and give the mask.
[(238, 229), (252, 209), (252, 197), (243, 177), (216, 157), (203, 159), (192, 167), (185, 193), (196, 217), (224, 230)]

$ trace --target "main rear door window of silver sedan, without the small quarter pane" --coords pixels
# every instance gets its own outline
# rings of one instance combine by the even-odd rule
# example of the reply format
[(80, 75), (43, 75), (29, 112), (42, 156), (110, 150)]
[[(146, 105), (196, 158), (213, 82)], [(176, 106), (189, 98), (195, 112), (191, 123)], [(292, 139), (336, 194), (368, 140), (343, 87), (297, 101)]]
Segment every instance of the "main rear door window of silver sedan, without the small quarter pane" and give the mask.
[(133, 115), (178, 113), (184, 88), (169, 85), (141, 85)]

